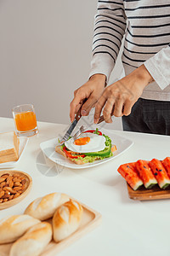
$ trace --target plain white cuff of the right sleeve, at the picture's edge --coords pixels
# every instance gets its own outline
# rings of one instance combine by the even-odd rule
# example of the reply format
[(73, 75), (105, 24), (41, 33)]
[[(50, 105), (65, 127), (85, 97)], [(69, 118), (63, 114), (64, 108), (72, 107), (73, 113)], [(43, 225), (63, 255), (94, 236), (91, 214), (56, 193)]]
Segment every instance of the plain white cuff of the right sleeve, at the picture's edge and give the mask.
[(144, 66), (161, 90), (165, 89), (170, 84), (170, 44), (144, 61)]

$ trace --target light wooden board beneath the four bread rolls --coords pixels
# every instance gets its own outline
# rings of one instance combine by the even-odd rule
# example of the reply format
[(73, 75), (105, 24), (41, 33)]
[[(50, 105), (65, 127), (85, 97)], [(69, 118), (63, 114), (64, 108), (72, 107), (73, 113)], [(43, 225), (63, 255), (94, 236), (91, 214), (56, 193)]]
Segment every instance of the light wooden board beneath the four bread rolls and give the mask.
[[(41, 256), (54, 256), (57, 253), (61, 252), (65, 247), (68, 247), (74, 241), (77, 241), (79, 238), (84, 236), (91, 230), (94, 230), (101, 221), (101, 214), (99, 212), (94, 211), (90, 207), (80, 204), (83, 207), (82, 214), (82, 222), (76, 232), (74, 232), (71, 236), (67, 237), (63, 241), (59, 241), (58, 243), (51, 241), (48, 246), (41, 253)], [(49, 223), (52, 222), (52, 219), (48, 220)], [(8, 256), (10, 252), (10, 247), (13, 243), (8, 243), (6, 245), (0, 245), (0, 256)]]

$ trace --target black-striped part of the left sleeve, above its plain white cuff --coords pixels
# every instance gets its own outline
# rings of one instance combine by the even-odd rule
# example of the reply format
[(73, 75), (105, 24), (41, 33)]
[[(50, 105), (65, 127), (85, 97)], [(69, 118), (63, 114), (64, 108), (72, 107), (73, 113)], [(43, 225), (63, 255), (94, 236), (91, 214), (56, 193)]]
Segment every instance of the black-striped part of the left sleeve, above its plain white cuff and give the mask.
[(119, 1), (99, 1), (94, 26), (94, 55), (105, 53), (116, 61), (126, 28), (124, 6)]

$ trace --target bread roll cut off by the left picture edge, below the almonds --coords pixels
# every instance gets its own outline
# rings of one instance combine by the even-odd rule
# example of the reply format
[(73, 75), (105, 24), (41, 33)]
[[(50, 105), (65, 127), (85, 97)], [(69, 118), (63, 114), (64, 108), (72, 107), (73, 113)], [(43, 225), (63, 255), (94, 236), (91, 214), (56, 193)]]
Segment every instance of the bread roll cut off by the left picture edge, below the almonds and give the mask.
[(17, 240), (31, 226), (40, 223), (29, 215), (13, 215), (0, 220), (0, 244)]

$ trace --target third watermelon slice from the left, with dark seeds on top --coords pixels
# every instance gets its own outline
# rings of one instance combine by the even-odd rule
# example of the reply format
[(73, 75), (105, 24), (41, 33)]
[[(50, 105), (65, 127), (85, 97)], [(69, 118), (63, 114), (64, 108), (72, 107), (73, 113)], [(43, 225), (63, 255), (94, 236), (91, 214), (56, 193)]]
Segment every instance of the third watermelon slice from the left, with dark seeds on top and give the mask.
[(149, 166), (154, 176), (156, 177), (157, 183), (161, 189), (166, 189), (170, 184), (170, 178), (167, 176), (166, 169), (161, 164), (160, 160), (152, 159), (149, 162)]

